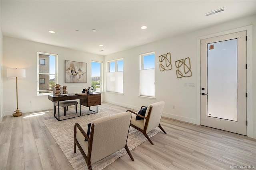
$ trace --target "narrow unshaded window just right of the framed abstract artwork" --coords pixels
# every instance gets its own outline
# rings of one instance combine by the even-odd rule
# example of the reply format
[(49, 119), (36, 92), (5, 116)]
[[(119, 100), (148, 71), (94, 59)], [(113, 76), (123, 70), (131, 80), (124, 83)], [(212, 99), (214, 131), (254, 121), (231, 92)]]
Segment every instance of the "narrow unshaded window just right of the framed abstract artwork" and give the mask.
[(92, 86), (96, 92), (102, 91), (102, 63), (92, 61)]

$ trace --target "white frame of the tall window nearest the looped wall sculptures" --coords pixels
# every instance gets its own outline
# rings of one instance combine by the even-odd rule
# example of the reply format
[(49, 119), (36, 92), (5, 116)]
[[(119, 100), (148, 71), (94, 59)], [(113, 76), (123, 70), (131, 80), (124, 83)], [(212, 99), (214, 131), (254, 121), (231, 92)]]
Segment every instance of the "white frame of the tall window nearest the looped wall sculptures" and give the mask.
[[(156, 69), (156, 62), (155, 62), (155, 58), (156, 56), (154, 56), (154, 68), (148, 68), (148, 69), (144, 69), (144, 56), (147, 56), (147, 55), (152, 55), (154, 54), (155, 55), (155, 51), (152, 51), (152, 52), (148, 52), (148, 53), (142, 53), (140, 54), (140, 73), (141, 73), (141, 70), (151, 70), (151, 69), (154, 69), (154, 72), (155, 72), (155, 69)], [(140, 77), (140, 75), (139, 75)], [(141, 77), (140, 77), (141, 78)], [(156, 98), (156, 87), (155, 87), (155, 74), (154, 74), (154, 96), (151, 96), (151, 95), (142, 95), (141, 94), (141, 80), (139, 79), (139, 97), (142, 97), (142, 98), (152, 98), (152, 99), (155, 99)]]

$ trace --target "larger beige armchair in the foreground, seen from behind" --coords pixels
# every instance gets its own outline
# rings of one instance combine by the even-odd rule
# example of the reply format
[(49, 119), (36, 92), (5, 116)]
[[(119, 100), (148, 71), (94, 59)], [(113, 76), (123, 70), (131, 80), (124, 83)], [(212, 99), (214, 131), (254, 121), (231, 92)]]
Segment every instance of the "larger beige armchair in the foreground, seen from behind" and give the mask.
[(77, 145), (89, 170), (92, 170), (94, 162), (122, 148), (126, 149), (128, 155), (134, 161), (126, 145), (131, 117), (132, 113), (124, 112), (96, 119), (91, 123), (90, 135), (87, 135), (88, 127), (82, 129), (78, 123), (75, 123), (74, 153), (76, 153)]

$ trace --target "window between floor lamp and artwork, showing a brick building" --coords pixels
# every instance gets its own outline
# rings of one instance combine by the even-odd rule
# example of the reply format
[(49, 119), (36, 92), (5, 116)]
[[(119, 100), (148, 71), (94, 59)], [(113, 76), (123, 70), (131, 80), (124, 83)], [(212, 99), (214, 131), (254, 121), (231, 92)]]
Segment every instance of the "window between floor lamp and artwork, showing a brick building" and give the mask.
[(37, 94), (48, 95), (52, 93), (52, 87), (57, 83), (57, 57), (48, 53), (37, 53)]

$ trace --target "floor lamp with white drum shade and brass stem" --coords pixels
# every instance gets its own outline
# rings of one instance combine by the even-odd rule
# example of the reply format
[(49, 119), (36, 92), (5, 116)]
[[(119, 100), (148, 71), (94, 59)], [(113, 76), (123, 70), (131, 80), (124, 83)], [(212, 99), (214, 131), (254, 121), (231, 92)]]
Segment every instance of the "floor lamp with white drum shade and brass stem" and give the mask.
[(16, 99), (17, 99), (17, 109), (12, 115), (14, 117), (21, 116), (22, 112), (18, 109), (18, 77), (26, 77), (26, 70), (20, 68), (7, 68), (7, 77), (16, 77)]

